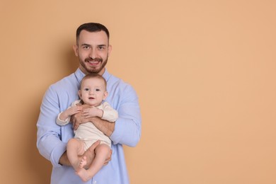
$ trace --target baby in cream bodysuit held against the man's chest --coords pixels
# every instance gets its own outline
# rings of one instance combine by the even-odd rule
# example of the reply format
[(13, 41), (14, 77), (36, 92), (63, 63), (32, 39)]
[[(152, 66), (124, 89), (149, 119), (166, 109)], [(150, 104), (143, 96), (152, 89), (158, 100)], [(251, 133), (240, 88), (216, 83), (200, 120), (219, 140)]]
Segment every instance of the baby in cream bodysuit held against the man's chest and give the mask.
[[(115, 122), (118, 118), (118, 113), (107, 102), (103, 102), (108, 96), (106, 91), (106, 81), (103, 76), (98, 74), (88, 74), (81, 80), (81, 88), (79, 90), (79, 98), (64, 112), (59, 113), (57, 117), (57, 125), (67, 125), (70, 122), (71, 115), (81, 112), (81, 105), (90, 105), (90, 108), (83, 110), (85, 117), (100, 117), (109, 122)], [(110, 155), (111, 140), (100, 132), (92, 122), (86, 122), (79, 125), (74, 132), (73, 139), (69, 139), (67, 144), (67, 156), (73, 166), (76, 174), (82, 180), (87, 181), (100, 171), (103, 167), (105, 159)], [(100, 140), (100, 144), (95, 149), (95, 159), (87, 170), (86, 157), (79, 159), (79, 156), (96, 141)]]

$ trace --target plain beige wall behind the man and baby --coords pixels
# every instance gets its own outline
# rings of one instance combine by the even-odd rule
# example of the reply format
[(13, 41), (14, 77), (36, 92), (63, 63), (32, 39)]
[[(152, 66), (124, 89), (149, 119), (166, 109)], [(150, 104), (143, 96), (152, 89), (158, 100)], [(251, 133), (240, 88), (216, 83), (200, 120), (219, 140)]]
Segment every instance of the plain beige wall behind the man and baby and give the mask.
[(0, 183), (50, 183), (40, 103), (75, 71), (90, 21), (110, 30), (108, 70), (139, 95), (132, 184), (276, 183), (275, 2), (1, 0)]

